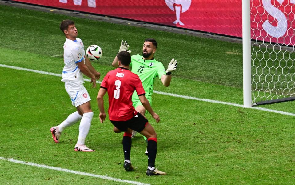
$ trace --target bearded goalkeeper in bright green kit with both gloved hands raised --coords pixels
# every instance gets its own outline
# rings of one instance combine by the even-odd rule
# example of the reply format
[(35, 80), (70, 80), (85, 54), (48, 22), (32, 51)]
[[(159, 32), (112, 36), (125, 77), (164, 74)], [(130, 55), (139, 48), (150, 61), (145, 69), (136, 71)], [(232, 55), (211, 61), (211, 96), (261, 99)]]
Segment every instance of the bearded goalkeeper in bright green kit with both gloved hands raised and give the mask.
[[(163, 64), (158, 62), (154, 58), (154, 54), (157, 50), (157, 41), (153, 38), (147, 38), (142, 46), (142, 56), (139, 54), (131, 56), (130, 67), (131, 71), (137, 74), (142, 81), (142, 86), (146, 92), (146, 98), (148, 99), (150, 105), (152, 105), (152, 94), (153, 94), (153, 83), (155, 79), (158, 77), (165, 87), (168, 87), (171, 82), (171, 72), (176, 70), (177, 61), (172, 59), (169, 63), (167, 70), (165, 70)], [(129, 50), (129, 45), (125, 41), (121, 41), (120, 51), (127, 51), (131, 53)], [(112, 66), (118, 67), (118, 57), (116, 56)], [(141, 113), (143, 116), (146, 114), (146, 109), (140, 103), (138, 95), (136, 92), (132, 95), (132, 103), (136, 111)], [(136, 134), (135, 131), (132, 133), (132, 137)], [(146, 138), (145, 138), (146, 140)], [(146, 151), (147, 154), (147, 151)]]

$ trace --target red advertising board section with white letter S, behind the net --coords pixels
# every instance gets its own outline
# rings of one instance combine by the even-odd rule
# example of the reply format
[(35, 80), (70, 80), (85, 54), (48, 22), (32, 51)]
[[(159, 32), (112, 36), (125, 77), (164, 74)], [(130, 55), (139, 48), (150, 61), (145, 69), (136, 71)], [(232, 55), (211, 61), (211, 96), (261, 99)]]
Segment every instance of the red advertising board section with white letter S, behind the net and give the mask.
[(253, 39), (295, 45), (295, 0), (252, 0), (251, 7)]

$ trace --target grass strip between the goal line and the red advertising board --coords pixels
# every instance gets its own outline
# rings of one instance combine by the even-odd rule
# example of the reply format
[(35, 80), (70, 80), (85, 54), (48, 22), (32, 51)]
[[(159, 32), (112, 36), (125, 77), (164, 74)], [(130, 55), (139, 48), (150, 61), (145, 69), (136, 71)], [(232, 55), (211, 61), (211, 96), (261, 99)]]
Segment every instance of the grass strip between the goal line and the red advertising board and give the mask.
[[(169, 88), (155, 80), (154, 90), (243, 104), (241, 44), (10, 6), (1, 5), (0, 10), (0, 57), (11, 56), (3, 64), (60, 73), (62, 57), (52, 57), (63, 53), (65, 37), (58, 25), (61, 20), (73, 19), (85, 47), (92, 44), (102, 47), (103, 57), (93, 62), (102, 77), (113, 69), (111, 62), (121, 40), (128, 41), (132, 54), (142, 54), (143, 40), (151, 37), (158, 42), (155, 58), (165, 68), (171, 58), (179, 64)], [(49, 21), (40, 22), (40, 19)], [(27, 38), (34, 39), (27, 42)], [(295, 113), (294, 106), (295, 101), (260, 107)]]

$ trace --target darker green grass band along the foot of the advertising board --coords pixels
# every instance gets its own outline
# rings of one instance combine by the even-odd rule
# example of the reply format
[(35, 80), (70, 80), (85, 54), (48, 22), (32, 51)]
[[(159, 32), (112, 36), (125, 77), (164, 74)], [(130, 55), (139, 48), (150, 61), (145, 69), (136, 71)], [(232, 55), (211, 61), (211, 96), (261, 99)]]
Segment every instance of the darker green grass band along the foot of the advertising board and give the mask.
[[(59, 23), (64, 19), (73, 19), (78, 38), (82, 39), (85, 48), (92, 44), (102, 48), (103, 57), (99, 61), (102, 65), (110, 65), (118, 53), (121, 40), (128, 41), (131, 54), (142, 54), (144, 39), (155, 38), (158, 42), (155, 54), (157, 61), (162, 62), (165, 68), (172, 58), (178, 61), (178, 69), (173, 72), (173, 76), (242, 87), (241, 44), (10, 6), (0, 5), (0, 11), (0, 47), (50, 57), (61, 55), (65, 37), (59, 29)], [(34, 39), (27, 42), (27, 38)]]

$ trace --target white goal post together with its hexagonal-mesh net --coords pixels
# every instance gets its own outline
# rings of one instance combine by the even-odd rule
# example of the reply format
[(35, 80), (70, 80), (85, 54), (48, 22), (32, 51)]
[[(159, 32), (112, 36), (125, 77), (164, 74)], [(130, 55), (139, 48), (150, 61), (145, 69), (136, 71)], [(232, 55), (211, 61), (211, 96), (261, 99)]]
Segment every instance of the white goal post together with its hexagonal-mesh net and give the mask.
[(242, 0), (244, 107), (295, 100), (295, 0)]

